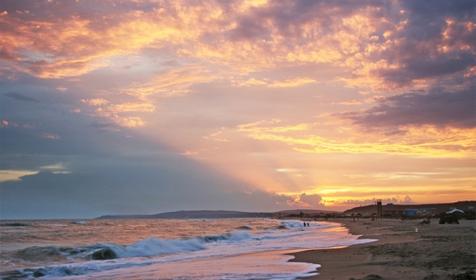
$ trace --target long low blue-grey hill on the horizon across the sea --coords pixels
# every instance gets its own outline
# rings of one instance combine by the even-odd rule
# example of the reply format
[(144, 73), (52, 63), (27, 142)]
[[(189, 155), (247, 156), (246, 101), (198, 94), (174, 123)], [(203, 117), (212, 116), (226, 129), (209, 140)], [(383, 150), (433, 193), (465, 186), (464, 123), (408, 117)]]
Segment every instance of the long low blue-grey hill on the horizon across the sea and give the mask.
[(271, 218), (271, 212), (240, 212), (224, 210), (191, 210), (165, 212), (152, 215), (105, 215), (97, 219), (220, 219), (220, 218)]

